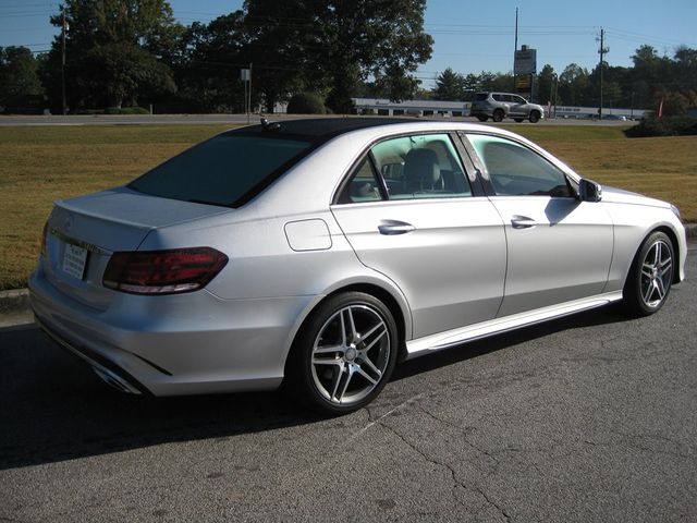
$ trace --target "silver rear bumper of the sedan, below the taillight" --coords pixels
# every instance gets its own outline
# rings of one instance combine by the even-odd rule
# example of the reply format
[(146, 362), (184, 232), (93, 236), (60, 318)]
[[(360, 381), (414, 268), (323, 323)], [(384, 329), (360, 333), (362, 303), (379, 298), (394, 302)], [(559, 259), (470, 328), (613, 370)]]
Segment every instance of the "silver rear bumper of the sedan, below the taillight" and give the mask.
[(314, 299), (114, 293), (98, 311), (59, 291), (40, 268), (29, 278), (32, 308), (51, 338), (110, 385), (155, 396), (277, 388)]

